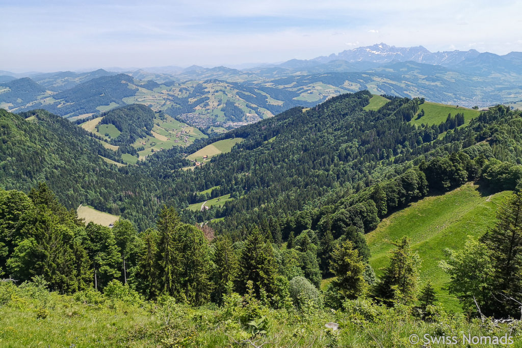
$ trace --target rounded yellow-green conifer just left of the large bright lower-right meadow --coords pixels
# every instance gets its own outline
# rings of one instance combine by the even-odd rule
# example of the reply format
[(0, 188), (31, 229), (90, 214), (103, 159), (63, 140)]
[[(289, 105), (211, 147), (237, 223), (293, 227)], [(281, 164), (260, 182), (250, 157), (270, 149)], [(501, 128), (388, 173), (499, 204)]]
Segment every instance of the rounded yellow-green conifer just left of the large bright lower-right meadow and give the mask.
[(359, 251), (350, 241), (340, 243), (331, 254), (330, 271), (334, 273), (333, 285), (345, 298), (357, 298), (364, 293), (366, 266)]

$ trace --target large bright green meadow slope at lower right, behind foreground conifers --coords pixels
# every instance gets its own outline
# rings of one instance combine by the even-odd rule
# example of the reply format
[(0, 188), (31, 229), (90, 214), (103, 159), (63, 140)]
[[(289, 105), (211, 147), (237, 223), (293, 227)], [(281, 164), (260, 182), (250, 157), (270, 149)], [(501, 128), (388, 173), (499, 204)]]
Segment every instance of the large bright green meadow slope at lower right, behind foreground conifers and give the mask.
[(393, 248), (386, 241), (396, 241), (404, 235), (411, 238), (413, 249), (422, 258), (421, 283), (430, 278), (447, 307), (457, 308), (456, 299), (447, 295), (442, 287), (447, 275), (438, 267), (444, 258), (445, 248), (461, 248), (467, 235), (480, 236), (494, 223), (495, 212), (508, 191), (490, 198), (481, 194), (478, 186), (468, 183), (441, 196), (426, 197), (414, 202), (384, 219), (366, 235), (370, 246), (370, 264), (377, 275), (388, 262), (387, 252)]

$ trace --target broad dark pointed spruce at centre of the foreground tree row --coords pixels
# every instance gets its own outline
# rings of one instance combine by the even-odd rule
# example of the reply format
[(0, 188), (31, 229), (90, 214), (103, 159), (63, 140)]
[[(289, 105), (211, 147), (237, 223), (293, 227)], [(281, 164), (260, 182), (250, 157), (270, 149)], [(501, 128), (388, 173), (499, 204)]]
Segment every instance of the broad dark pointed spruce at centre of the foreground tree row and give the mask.
[(277, 264), (274, 249), (267, 243), (265, 237), (255, 228), (247, 237), (239, 262), (238, 290), (246, 292), (246, 284), (252, 281), (255, 293), (259, 296), (261, 289), (268, 295), (276, 291)]

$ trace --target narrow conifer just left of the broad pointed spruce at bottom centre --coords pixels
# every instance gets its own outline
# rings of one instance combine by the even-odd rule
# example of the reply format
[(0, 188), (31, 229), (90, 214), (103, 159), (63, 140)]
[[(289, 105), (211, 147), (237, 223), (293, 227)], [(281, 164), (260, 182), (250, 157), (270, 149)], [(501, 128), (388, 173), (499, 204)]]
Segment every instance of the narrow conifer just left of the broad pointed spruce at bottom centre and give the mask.
[(238, 259), (234, 253), (230, 238), (219, 236), (214, 243), (213, 256), (213, 292), (214, 301), (221, 303), (223, 294), (226, 293), (227, 283), (235, 282), (238, 274)]

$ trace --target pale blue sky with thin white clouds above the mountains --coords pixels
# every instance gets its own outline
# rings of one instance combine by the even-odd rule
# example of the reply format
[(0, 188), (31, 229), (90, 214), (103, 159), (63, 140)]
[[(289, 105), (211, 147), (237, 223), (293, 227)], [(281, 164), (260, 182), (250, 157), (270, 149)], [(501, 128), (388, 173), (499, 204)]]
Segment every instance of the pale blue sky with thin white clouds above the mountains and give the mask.
[(245, 64), (384, 42), (522, 51), (522, 0), (0, 0), (0, 70)]

